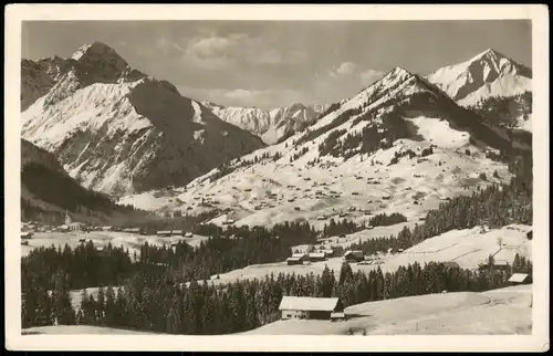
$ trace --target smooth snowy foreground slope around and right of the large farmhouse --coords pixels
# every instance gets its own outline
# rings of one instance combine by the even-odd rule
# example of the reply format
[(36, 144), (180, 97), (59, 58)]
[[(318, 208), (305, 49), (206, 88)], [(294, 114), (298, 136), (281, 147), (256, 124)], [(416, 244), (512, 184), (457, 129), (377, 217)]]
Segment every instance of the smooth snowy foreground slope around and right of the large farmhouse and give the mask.
[(352, 305), (345, 322), (278, 321), (243, 335), (462, 335), (532, 333), (532, 285), (427, 294)]

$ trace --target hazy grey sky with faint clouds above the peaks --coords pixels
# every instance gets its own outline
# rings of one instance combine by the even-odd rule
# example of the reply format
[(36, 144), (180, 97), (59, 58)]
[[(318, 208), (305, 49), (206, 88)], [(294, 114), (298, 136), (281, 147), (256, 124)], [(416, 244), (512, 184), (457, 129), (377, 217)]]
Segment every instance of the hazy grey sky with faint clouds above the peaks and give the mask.
[(532, 65), (530, 20), (33, 21), (22, 57), (103, 42), (181, 95), (226, 106), (334, 103), (401, 66), (429, 74), (493, 49)]

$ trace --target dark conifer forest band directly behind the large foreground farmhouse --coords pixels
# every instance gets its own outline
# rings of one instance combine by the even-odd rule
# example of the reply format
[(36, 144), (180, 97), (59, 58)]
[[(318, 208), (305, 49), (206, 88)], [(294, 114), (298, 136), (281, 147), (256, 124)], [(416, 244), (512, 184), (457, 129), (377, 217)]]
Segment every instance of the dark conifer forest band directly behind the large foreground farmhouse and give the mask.
[[(523, 272), (532, 264), (517, 256)], [(280, 318), (283, 295), (338, 296), (344, 306), (403, 296), (448, 292), (482, 292), (508, 285), (509, 271), (494, 269), (493, 259), (486, 270), (470, 271), (430, 262), (400, 266), (384, 273), (380, 268), (368, 273), (353, 273), (347, 263), (338, 279), (325, 266), (321, 275), (294, 273), (264, 279), (236, 281), (218, 286), (192, 282), (184, 287), (165, 278), (145, 283), (137, 274), (116, 290), (101, 289), (97, 297), (82, 292), (81, 305), (73, 310), (64, 286), (64, 276), (56, 275), (54, 293), (43, 289), (28, 293), (23, 302), (23, 327), (58, 324), (81, 324), (133, 328), (168, 334), (232, 334), (257, 328)]]

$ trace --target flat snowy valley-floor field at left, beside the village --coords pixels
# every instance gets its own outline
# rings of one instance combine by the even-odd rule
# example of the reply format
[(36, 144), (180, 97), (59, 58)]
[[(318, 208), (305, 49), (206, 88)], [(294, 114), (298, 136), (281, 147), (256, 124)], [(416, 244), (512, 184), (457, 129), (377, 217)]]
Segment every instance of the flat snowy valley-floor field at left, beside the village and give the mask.
[(163, 247), (164, 244), (170, 247), (171, 243), (178, 241), (185, 241), (191, 247), (197, 247), (201, 241), (209, 239), (208, 237), (195, 234), (192, 238), (184, 237), (170, 237), (163, 238), (157, 235), (143, 235), (127, 232), (88, 232), (88, 233), (63, 233), (63, 232), (36, 232), (33, 234), (32, 239), (29, 239), (29, 245), (21, 245), (21, 255), (28, 255), (29, 252), (39, 247), (50, 248), (52, 244), (58, 248), (61, 245), (62, 249), (67, 243), (70, 248), (74, 249), (81, 244), (80, 239), (86, 239), (86, 241), (92, 240), (95, 247), (106, 247), (107, 243), (112, 243), (113, 247), (123, 247), (128, 249), (128, 253), (133, 256), (136, 252), (137, 256), (140, 255), (140, 245), (148, 242), (150, 245)]

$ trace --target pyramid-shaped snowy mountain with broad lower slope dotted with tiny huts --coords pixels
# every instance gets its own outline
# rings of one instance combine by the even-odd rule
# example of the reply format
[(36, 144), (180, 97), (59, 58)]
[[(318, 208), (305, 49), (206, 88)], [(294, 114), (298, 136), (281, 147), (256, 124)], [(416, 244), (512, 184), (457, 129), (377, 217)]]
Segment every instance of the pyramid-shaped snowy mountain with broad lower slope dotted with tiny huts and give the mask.
[[(148, 210), (227, 211), (237, 224), (330, 217), (417, 221), (448, 197), (510, 178), (492, 159), (528, 142), (486, 123), (424, 77), (396, 67), (303, 133), (211, 170), (186, 187), (124, 197)], [(212, 220), (221, 223), (229, 214)]]

